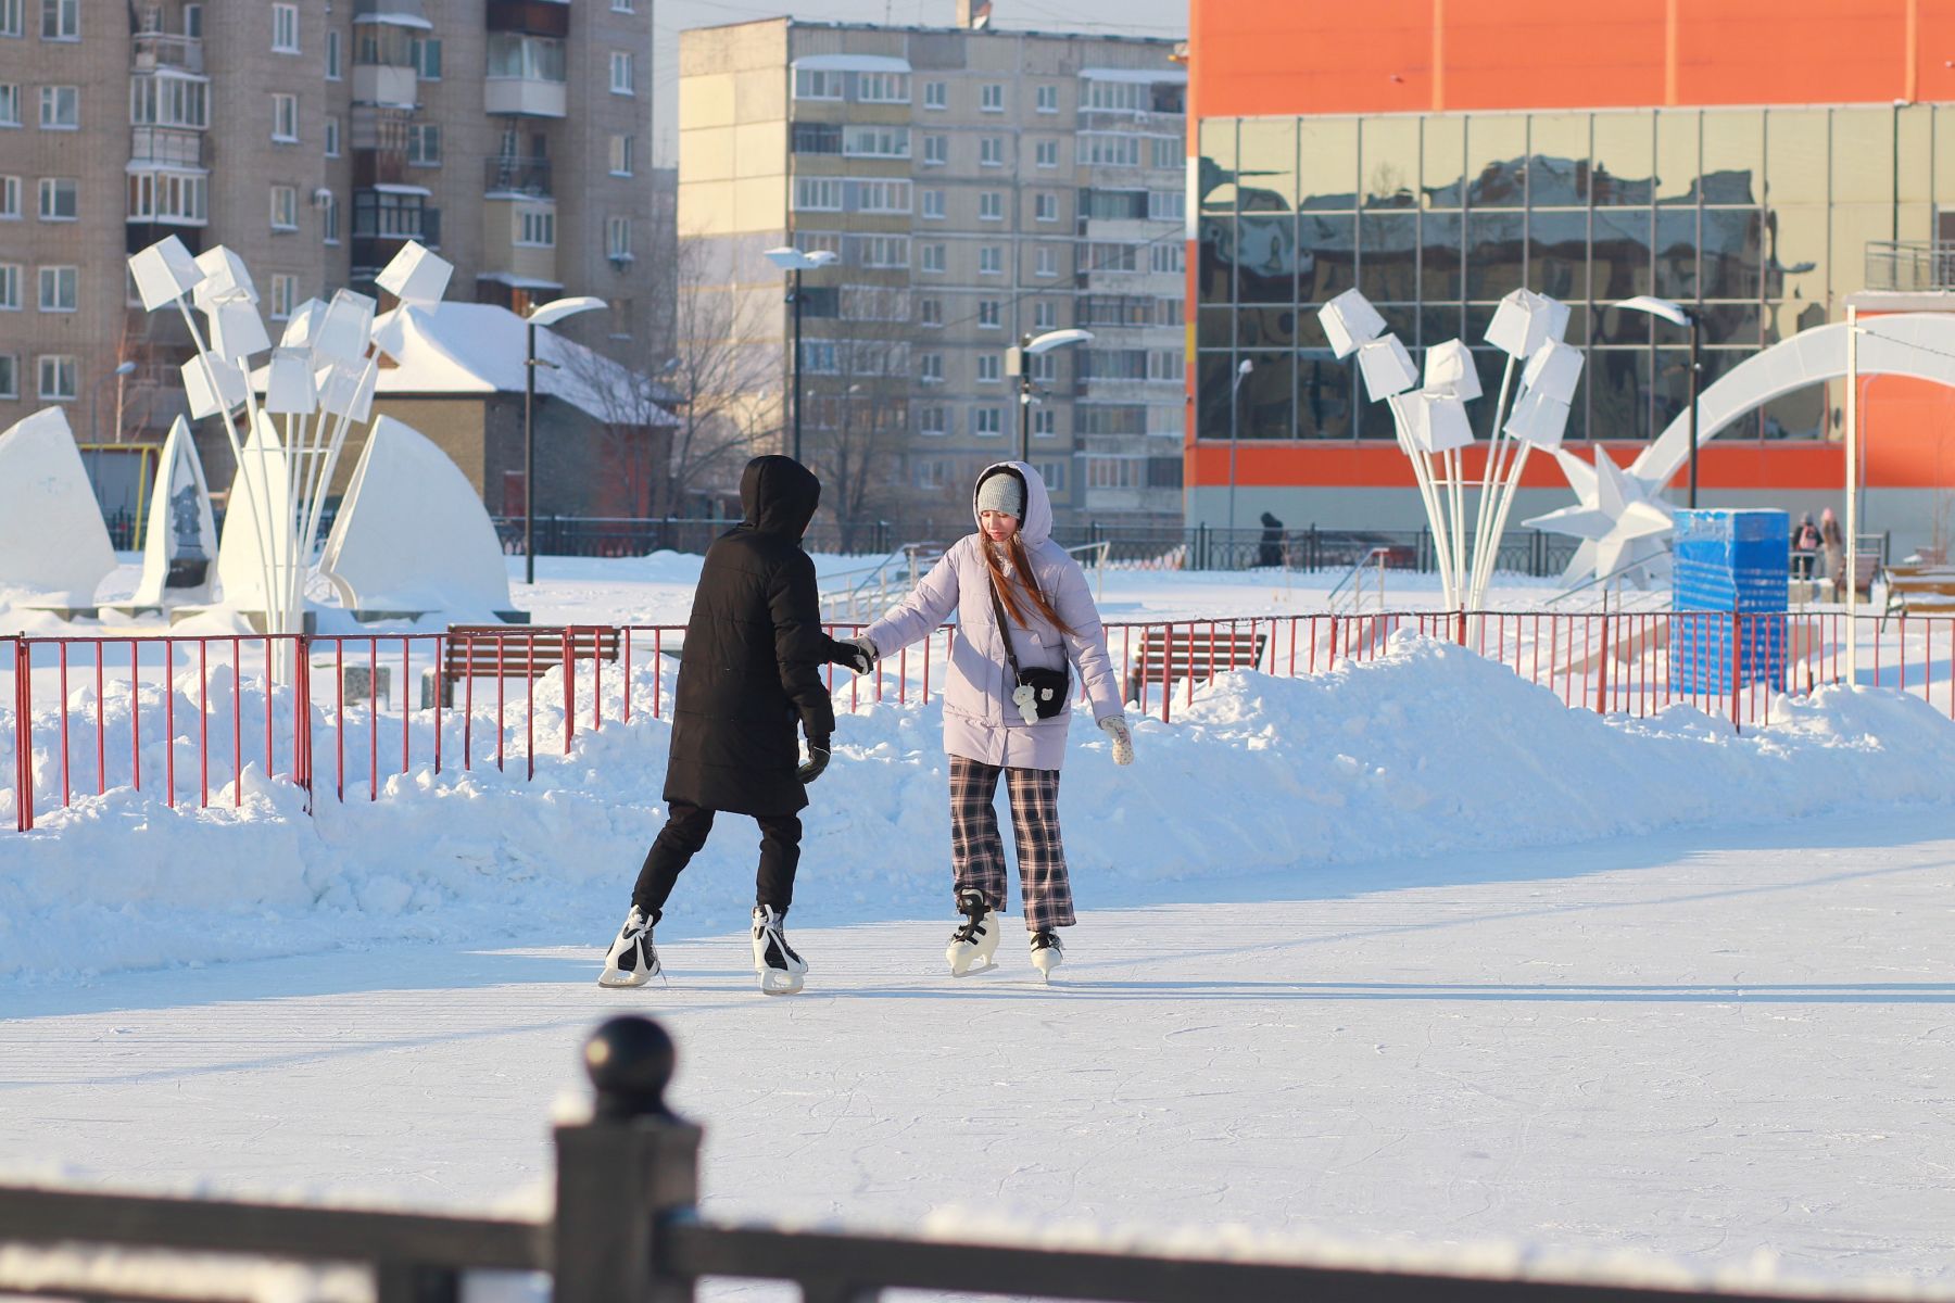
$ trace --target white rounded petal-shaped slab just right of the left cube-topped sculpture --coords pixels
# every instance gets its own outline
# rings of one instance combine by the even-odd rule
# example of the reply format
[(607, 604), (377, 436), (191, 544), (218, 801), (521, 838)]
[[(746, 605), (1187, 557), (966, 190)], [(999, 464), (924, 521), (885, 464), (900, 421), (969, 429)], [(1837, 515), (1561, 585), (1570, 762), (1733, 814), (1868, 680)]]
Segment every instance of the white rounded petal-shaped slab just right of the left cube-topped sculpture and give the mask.
[(510, 606), (481, 494), (448, 453), (391, 416), (373, 422), (319, 570), (348, 609), (489, 617)]

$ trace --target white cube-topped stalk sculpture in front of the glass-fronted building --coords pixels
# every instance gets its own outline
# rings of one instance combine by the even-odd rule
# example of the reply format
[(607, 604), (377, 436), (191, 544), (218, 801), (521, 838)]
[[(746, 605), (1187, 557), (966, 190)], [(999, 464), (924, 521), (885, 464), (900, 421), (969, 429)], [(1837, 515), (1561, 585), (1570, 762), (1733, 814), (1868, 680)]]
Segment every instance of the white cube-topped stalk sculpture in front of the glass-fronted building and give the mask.
[[(1517, 289), (1499, 301), (1488, 326), (1488, 344), (1507, 354), (1507, 367), (1494, 404), (1494, 440), (1480, 473), (1470, 547), (1460, 449), (1474, 441), (1466, 402), (1480, 397), (1472, 352), (1458, 340), (1435, 344), (1425, 354), (1425, 385), (1413, 389), (1419, 375), (1412, 356), (1398, 336), (1384, 332), (1384, 318), (1365, 295), (1347, 289), (1318, 311), (1318, 320), (1337, 357), (1357, 354), (1372, 402), (1382, 399), (1392, 410), (1398, 445), (1412, 459), (1431, 524), (1445, 604), (1478, 609), (1494, 578), (1494, 559), (1527, 455), (1535, 447), (1558, 449), (1568, 426), (1568, 402), (1582, 377), (1580, 350), (1562, 344), (1568, 309), (1531, 289)], [(1509, 410), (1513, 369), (1521, 361), (1527, 363), (1521, 393)]]

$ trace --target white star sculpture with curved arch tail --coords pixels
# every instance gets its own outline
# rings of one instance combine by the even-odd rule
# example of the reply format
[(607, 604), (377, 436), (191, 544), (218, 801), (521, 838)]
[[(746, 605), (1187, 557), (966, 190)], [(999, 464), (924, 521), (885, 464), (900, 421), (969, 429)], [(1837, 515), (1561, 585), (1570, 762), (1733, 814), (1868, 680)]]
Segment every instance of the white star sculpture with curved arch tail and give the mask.
[[(1846, 322), (1814, 326), (1740, 361), (1724, 379), (1697, 395), (1697, 447), (1773, 399), (1806, 385), (1846, 379)], [(1861, 318), (1859, 373), (1908, 375), (1955, 387), (1955, 315), (1896, 313)], [(1570, 584), (1587, 574), (1603, 578), (1627, 565), (1660, 557), (1662, 537), (1672, 529), (1673, 512), (1662, 500), (1664, 484), (1687, 457), (1687, 416), (1670, 422), (1629, 469), (1617, 469), (1599, 445), (1593, 465), (1568, 449), (1558, 449), (1554, 459), (1580, 502), (1523, 524), (1582, 539), (1562, 574)], [(1642, 567), (1638, 576), (1652, 576), (1658, 567)]]

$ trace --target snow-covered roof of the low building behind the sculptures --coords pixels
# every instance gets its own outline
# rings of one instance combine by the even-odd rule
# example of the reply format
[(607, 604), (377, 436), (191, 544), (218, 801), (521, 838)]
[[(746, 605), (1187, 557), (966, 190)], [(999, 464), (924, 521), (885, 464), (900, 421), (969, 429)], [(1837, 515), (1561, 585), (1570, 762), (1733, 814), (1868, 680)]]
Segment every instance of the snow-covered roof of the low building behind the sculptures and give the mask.
[[(434, 309), (397, 307), (373, 320), (373, 330), (405, 313), (399, 365), (381, 365), (375, 393), (522, 393), (524, 320), (495, 303), (440, 303)], [(536, 369), (536, 393), (563, 399), (596, 420), (676, 426), (678, 418), (665, 408), (653, 408), (645, 420), (620, 408), (608, 395), (633, 393), (633, 373), (583, 344), (565, 340), (547, 326), (536, 330), (536, 356), (555, 367)], [(643, 381), (641, 381), (643, 383)], [(651, 383), (651, 397), (661, 402), (678, 399), (671, 389)]]

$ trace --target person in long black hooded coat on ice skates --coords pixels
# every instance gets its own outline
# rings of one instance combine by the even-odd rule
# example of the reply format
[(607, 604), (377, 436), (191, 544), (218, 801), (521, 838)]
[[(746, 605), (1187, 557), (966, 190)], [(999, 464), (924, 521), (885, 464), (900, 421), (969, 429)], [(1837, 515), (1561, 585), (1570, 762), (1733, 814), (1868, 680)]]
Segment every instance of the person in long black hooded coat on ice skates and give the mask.
[[(651, 928), (719, 811), (760, 824), (753, 949), (762, 990), (792, 994), (807, 971), (782, 916), (794, 903), (807, 783), (827, 766), (835, 733), (821, 666), (854, 664), (858, 654), (821, 631), (815, 563), (802, 551), (821, 481), (792, 457), (755, 457), (739, 496), (745, 520), (706, 551), (692, 594), (665, 770), (669, 817), (604, 957), (598, 983), (606, 987), (639, 987), (659, 971)], [(807, 735), (807, 764), (800, 764), (796, 725)]]

